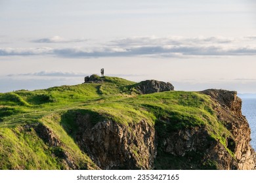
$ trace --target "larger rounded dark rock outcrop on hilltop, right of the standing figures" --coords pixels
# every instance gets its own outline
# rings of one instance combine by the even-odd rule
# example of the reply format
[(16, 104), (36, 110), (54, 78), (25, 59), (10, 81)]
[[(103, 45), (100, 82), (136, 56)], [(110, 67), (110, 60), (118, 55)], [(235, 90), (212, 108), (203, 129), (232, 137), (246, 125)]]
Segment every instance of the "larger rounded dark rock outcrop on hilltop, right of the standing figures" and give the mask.
[(145, 80), (136, 84), (135, 90), (141, 94), (173, 91), (174, 86), (169, 82), (158, 80)]

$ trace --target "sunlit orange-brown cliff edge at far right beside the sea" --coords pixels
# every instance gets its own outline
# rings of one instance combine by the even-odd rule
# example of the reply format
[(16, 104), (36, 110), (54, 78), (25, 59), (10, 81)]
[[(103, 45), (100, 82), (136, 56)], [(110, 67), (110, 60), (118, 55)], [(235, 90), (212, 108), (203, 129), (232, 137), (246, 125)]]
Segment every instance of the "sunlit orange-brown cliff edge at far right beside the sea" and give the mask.
[[(223, 169), (256, 169), (255, 151), (249, 144), (251, 141), (251, 130), (244, 116), (242, 116), (242, 100), (236, 92), (226, 90), (205, 90), (202, 93), (211, 96), (215, 101), (214, 110), (219, 121), (232, 133), (233, 139), (226, 139), (230, 150), (234, 152), (235, 158), (225, 156), (225, 150), (216, 146), (216, 150), (209, 156), (217, 156), (219, 164)], [(229, 143), (229, 144), (228, 144)], [(222, 159), (222, 161), (220, 161)]]

